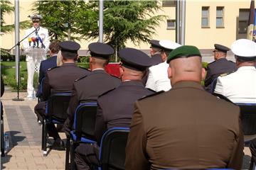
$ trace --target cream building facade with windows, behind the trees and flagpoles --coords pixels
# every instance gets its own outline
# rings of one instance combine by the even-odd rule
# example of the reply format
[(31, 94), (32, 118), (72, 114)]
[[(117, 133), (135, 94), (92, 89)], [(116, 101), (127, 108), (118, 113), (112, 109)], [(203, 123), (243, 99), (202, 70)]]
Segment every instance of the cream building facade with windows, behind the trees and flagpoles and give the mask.
[[(34, 13), (33, 2), (20, 1), (20, 21), (29, 20), (28, 15)], [(14, 4), (14, 1), (11, 3)], [(159, 5), (162, 8), (157, 14), (166, 15), (167, 18), (156, 28), (153, 39), (175, 41), (176, 1), (159, 1)], [(246, 38), (249, 8), (250, 0), (186, 0), (185, 44), (195, 45), (206, 55), (212, 55), (215, 43), (230, 47), (234, 40)], [(14, 13), (4, 16), (4, 20), (6, 24), (14, 23)], [(20, 40), (23, 35), (24, 30), (20, 30)], [(9, 49), (14, 45), (14, 32), (1, 35), (0, 38), (1, 47)], [(80, 42), (80, 54), (85, 54), (89, 43), (86, 40)], [(149, 50), (149, 44), (145, 42), (134, 45), (128, 41), (126, 45)]]

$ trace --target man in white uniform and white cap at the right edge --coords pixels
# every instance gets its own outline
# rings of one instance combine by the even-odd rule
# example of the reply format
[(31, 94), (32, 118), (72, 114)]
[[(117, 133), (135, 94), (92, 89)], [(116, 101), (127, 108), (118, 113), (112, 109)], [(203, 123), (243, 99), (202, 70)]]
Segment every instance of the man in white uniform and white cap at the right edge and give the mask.
[(236, 40), (231, 50), (238, 71), (218, 77), (214, 93), (222, 94), (233, 103), (256, 103), (256, 42)]

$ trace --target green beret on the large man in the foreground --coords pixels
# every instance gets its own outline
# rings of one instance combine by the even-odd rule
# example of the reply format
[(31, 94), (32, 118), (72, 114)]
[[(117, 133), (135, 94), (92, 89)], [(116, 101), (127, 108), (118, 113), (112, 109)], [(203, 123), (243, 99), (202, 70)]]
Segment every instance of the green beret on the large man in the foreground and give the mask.
[(181, 57), (193, 57), (193, 56), (201, 56), (200, 51), (197, 47), (192, 45), (183, 45), (181, 47), (177, 47), (176, 49), (172, 50), (167, 58), (167, 63), (171, 62), (176, 58)]

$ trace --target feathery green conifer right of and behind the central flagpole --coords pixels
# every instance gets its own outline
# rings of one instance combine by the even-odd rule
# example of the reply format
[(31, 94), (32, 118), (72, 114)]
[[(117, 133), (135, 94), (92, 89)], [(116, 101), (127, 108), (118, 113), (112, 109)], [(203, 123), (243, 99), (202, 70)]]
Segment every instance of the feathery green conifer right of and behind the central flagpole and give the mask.
[[(93, 12), (80, 22), (80, 30), (85, 38), (97, 38), (99, 1), (89, 1)], [(127, 40), (135, 45), (140, 42), (149, 42), (155, 33), (156, 26), (165, 16), (154, 15), (160, 10), (157, 1), (104, 1), (104, 40), (116, 50), (124, 47)], [(80, 11), (81, 13), (87, 13)], [(86, 16), (80, 14), (80, 16)], [(90, 26), (90, 31), (88, 30)]]

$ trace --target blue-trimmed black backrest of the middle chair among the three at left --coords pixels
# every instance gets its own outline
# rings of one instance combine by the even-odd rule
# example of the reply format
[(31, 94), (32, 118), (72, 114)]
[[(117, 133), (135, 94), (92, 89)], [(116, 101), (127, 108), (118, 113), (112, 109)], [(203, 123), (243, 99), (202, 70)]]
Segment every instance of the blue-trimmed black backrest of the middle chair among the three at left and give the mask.
[(75, 110), (75, 118), (73, 128), (76, 141), (80, 141), (81, 137), (86, 137), (88, 140), (95, 141), (95, 120), (97, 113), (97, 101), (80, 103)]

